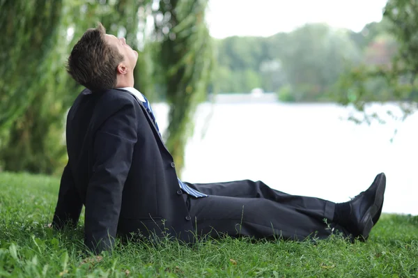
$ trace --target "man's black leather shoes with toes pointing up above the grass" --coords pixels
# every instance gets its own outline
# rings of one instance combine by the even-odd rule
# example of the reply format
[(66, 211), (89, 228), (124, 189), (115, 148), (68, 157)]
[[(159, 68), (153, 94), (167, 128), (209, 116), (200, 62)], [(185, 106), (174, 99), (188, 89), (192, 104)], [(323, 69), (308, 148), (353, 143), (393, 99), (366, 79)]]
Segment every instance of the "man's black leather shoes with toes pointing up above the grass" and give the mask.
[(383, 196), (386, 188), (385, 173), (379, 173), (366, 191), (349, 201), (350, 215), (357, 226), (347, 227), (355, 238), (366, 240), (371, 228), (378, 222), (382, 213)]

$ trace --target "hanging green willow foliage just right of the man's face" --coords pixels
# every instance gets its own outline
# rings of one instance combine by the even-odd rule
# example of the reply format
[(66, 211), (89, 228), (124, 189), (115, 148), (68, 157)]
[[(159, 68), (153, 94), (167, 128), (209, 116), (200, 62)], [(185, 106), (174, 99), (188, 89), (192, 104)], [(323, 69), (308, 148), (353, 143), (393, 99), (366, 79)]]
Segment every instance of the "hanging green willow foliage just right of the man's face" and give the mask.
[(167, 148), (183, 168), (187, 138), (193, 132), (192, 116), (208, 90), (212, 69), (212, 39), (205, 22), (207, 0), (160, 1), (155, 27), (164, 72), (164, 95), (170, 105)]

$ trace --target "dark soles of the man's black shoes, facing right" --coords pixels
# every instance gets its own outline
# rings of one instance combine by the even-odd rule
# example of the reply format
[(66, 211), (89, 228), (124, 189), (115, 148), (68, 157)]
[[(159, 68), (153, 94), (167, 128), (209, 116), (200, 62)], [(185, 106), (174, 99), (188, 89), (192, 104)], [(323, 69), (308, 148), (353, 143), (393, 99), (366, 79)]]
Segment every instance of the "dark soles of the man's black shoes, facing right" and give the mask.
[[(361, 226), (363, 229), (360, 231), (360, 239), (366, 240), (369, 238), (369, 233), (373, 228), (374, 224), (376, 224), (378, 217), (380, 216), (380, 212), (382, 210), (383, 205), (383, 196), (385, 194), (386, 189), (386, 176), (384, 173), (380, 173), (378, 177), (376, 177), (375, 182), (371, 187), (376, 185), (376, 193), (373, 205), (366, 211), (364, 217), (362, 218)], [(379, 215), (378, 215), (379, 214)], [(377, 216), (377, 219), (376, 219)], [(373, 218), (375, 222), (373, 222)]]

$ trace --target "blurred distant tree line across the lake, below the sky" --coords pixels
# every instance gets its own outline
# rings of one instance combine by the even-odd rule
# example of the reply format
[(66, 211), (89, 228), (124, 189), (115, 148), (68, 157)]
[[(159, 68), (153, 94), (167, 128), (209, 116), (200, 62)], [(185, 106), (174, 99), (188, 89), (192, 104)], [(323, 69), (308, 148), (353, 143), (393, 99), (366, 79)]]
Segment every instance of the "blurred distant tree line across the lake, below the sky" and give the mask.
[(330, 93), (344, 73), (362, 64), (390, 63), (397, 43), (387, 25), (373, 22), (356, 33), (306, 24), (268, 38), (216, 40), (219, 68), (211, 87), (222, 93), (262, 88), (291, 102), (333, 100)]

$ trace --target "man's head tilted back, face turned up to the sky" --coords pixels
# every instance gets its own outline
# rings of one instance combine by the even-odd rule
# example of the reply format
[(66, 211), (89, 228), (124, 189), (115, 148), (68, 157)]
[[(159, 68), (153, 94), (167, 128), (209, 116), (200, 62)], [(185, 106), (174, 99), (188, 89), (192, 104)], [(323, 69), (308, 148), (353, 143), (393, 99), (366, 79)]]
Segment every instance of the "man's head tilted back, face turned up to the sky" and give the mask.
[(134, 86), (134, 68), (138, 53), (125, 38), (106, 33), (99, 24), (88, 29), (72, 48), (67, 71), (76, 82), (91, 91)]

